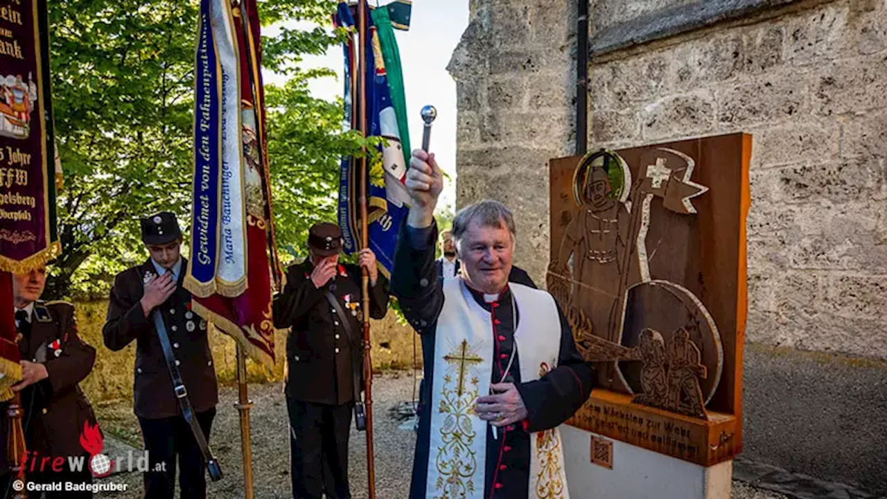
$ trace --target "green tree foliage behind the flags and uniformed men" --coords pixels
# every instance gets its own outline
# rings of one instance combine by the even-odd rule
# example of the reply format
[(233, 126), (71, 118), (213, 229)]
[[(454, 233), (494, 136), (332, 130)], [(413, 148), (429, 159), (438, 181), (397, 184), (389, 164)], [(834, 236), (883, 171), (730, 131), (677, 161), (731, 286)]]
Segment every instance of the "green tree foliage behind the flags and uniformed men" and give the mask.
[[(341, 106), (312, 99), (322, 72), (298, 67), (341, 33), (335, 0), (263, 0), (263, 24), (303, 21), (263, 36), (263, 67), (291, 77), (267, 88), (279, 244), (294, 248), (308, 220), (334, 216), (337, 158), (355, 149), (341, 133)], [(100, 291), (145, 257), (137, 219), (170, 210), (186, 226), (192, 180), (193, 68), (197, 0), (59, 0), (49, 3), (54, 119), (65, 189), (48, 297), (72, 285)], [(289, 24), (289, 23), (288, 23)]]

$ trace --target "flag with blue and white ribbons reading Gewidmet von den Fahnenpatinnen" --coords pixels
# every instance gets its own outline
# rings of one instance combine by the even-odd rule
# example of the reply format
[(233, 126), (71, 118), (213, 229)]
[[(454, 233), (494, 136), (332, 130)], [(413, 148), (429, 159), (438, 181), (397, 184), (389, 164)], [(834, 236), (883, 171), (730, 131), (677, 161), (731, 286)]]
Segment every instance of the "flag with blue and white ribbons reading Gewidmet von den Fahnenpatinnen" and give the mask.
[[(244, 21), (244, 16), (247, 21)], [(274, 366), (277, 262), (255, 0), (201, 0), (194, 102), (191, 265), (195, 313)]]

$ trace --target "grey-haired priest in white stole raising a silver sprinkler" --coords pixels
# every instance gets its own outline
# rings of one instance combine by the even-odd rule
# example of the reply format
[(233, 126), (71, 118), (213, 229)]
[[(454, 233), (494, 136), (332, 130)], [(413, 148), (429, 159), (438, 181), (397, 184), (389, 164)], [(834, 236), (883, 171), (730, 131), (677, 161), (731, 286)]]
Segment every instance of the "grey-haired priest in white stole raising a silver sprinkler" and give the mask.
[(434, 154), (413, 152), (406, 186), (391, 289), (424, 358), (411, 499), (569, 497), (558, 426), (591, 394), (592, 368), (553, 297), (508, 281), (511, 212), (494, 201), (460, 210), (462, 272), (440, 279)]

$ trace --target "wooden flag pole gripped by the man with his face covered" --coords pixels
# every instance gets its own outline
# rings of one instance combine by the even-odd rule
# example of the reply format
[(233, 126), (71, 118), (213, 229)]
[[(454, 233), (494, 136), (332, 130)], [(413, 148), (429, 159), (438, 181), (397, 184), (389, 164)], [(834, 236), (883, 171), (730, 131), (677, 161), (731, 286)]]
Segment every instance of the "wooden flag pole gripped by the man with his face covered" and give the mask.
[[(358, 100), (360, 102), (360, 131), (366, 133), (366, 0), (357, 0), (357, 51), (358, 59)], [(361, 147), (360, 155), (360, 227), (361, 248), (369, 248), (370, 238), (367, 229), (367, 198), (366, 198), (366, 142)], [(373, 364), (370, 359), (370, 276), (365, 268), (361, 269), (361, 308), (364, 319), (364, 392), (366, 410), (366, 479), (370, 499), (376, 496), (376, 473), (373, 463)], [(355, 400), (358, 402), (359, 400)]]

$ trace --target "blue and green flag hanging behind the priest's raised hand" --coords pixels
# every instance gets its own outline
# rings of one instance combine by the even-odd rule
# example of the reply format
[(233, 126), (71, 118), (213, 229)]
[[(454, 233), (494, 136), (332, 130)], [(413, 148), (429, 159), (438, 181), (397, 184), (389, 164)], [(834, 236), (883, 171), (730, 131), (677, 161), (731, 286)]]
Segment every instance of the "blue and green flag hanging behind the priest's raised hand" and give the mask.
[[(394, 266), (394, 250), (397, 242), (397, 230), (409, 210), (409, 194), (404, 181), (409, 165), (410, 151), (406, 128), (405, 99), (403, 98), (403, 81), (400, 72), (400, 60), (397, 55), (396, 40), (387, 16), (388, 10), (376, 9), (374, 13), (367, 8), (366, 47), (363, 57), (366, 60), (365, 95), (357, 95), (357, 84), (353, 77), (357, 71), (354, 54), (357, 41), (352, 36), (345, 45), (346, 110), (350, 110), (349, 122), (352, 128), (358, 122), (357, 110), (360, 99), (365, 101), (366, 135), (380, 137), (379, 156), (368, 158), (367, 161), (367, 206), (369, 247), (373, 249), (380, 264), (382, 273), (390, 275)], [(373, 19), (380, 16), (381, 27), (377, 28)], [(355, 15), (346, 4), (340, 4), (335, 23), (341, 27), (355, 26)], [(380, 29), (384, 33), (380, 35)], [(388, 67), (396, 68), (393, 78), (389, 78)], [(397, 106), (392, 102), (392, 95), (399, 101)], [(348, 96), (353, 96), (348, 99)], [(400, 110), (397, 107), (402, 107)], [(347, 112), (347, 111), (346, 111)], [(405, 144), (404, 144), (405, 143)], [(407, 146), (407, 147), (404, 147)], [(360, 206), (360, 171), (357, 162), (351, 158), (341, 162), (339, 185), (339, 225), (345, 240), (345, 253), (352, 254), (360, 249), (357, 239)]]

